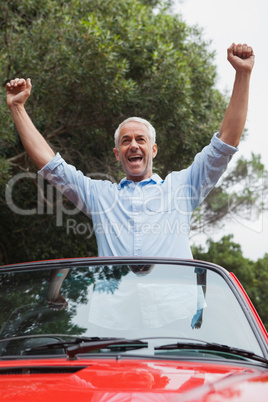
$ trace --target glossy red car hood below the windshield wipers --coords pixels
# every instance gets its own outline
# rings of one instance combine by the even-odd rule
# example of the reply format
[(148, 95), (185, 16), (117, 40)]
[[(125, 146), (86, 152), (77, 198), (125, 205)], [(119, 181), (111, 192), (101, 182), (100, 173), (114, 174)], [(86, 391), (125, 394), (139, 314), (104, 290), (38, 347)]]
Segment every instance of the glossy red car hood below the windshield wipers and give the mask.
[(1, 401), (267, 401), (268, 371), (170, 360), (2, 361)]

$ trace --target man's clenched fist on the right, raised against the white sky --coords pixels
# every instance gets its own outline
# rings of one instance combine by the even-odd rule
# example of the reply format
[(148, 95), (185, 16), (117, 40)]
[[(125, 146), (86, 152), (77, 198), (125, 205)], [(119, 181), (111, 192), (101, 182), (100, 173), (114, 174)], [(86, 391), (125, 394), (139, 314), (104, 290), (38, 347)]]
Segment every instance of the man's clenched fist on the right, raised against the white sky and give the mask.
[(227, 59), (232, 64), (236, 72), (250, 73), (254, 66), (254, 52), (251, 46), (247, 44), (233, 43), (227, 49)]

